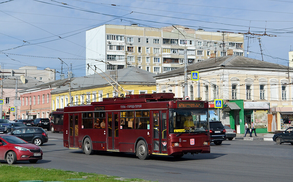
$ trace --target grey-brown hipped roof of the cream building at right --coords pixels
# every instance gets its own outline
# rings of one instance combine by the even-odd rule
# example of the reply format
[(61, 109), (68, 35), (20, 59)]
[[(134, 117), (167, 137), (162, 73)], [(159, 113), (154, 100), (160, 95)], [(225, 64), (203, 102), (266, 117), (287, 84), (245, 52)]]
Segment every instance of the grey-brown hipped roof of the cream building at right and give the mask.
[[(196, 62), (187, 66), (188, 72), (190, 71), (200, 71), (209, 68), (223, 68), (223, 67), (241, 67), (241, 68), (272, 68), (272, 69), (282, 69), (288, 70), (288, 66), (281, 64), (270, 63), (266, 61), (260, 61), (257, 59), (247, 58), (244, 56), (228, 55), (216, 58), (205, 59), (200, 62)], [(293, 69), (293, 68), (291, 68)], [(184, 67), (168, 71), (157, 75), (155, 78), (160, 78), (161, 76), (167, 75), (178, 75), (184, 74)]]

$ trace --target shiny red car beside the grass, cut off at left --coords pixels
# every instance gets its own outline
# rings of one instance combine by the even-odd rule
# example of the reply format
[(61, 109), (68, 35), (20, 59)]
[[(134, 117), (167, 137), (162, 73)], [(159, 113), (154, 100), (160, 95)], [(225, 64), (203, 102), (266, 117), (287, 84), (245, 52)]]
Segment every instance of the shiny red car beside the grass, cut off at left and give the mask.
[(6, 160), (8, 164), (16, 161), (36, 163), (42, 159), (41, 147), (28, 143), (16, 136), (0, 134), (0, 160)]

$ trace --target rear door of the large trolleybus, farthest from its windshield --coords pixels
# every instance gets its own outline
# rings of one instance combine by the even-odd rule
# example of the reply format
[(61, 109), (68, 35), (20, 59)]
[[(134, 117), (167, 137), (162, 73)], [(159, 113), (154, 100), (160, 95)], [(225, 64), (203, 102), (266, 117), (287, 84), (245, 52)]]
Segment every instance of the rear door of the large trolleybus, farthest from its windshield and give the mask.
[(78, 115), (79, 114), (69, 114), (69, 147), (79, 147)]

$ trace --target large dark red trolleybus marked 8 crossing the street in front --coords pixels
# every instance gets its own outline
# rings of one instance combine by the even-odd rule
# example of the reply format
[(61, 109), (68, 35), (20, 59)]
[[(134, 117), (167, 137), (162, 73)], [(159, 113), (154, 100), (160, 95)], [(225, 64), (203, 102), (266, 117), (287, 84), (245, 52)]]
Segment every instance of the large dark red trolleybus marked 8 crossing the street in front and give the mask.
[(64, 107), (64, 147), (88, 155), (98, 151), (182, 157), (209, 153), (208, 102), (185, 101), (173, 93), (104, 98)]

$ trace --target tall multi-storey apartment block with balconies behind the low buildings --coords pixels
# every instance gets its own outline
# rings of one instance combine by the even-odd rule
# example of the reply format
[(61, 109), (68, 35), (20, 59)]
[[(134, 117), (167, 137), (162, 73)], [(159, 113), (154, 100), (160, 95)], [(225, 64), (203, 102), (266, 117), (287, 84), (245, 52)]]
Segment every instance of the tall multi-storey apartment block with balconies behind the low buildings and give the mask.
[(86, 31), (86, 74), (94, 74), (87, 64), (104, 72), (138, 67), (160, 74), (210, 57), (225, 56), (227, 49), (243, 56), (243, 34), (207, 32), (183, 26), (162, 28), (124, 25), (101, 25)]

